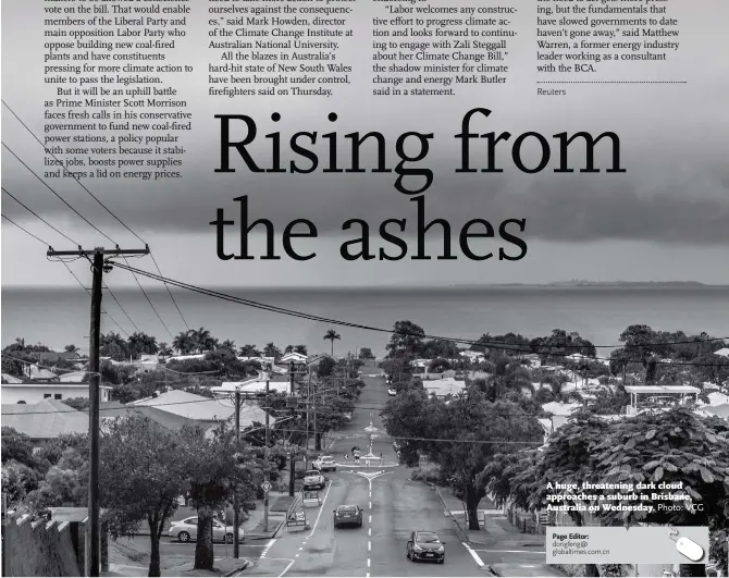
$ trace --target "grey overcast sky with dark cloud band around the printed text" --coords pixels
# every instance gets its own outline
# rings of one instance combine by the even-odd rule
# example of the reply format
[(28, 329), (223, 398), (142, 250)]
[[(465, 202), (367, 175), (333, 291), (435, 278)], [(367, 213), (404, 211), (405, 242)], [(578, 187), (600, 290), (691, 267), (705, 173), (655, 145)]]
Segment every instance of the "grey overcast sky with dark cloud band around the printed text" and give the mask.
[[(465, 3), (465, 2), (459, 2)], [(515, 2), (516, 3), (516, 2)], [(448, 283), (543, 283), (568, 279), (696, 280), (729, 284), (729, 58), (726, 0), (668, 5), (680, 19), (681, 46), (667, 63), (639, 63), (603, 69), (601, 79), (685, 81), (687, 84), (568, 85), (567, 97), (538, 97), (534, 59), (533, 7), (518, 2), (519, 37), (509, 47), (514, 74), (508, 84), (460, 88), (458, 97), (393, 99), (369, 97), (369, 34), (373, 15), (383, 15), (378, 4), (361, 2), (354, 19), (356, 46), (343, 50), (343, 59), (355, 66), (353, 84), (337, 88), (337, 96), (262, 98), (211, 98), (207, 95), (207, 62), (217, 59), (207, 50), (208, 2), (191, 2), (194, 24), (178, 41), (173, 62), (193, 64), (196, 72), (184, 81), (171, 78), (178, 97), (194, 113), (191, 134), (183, 139), (188, 150), (184, 179), (162, 182), (82, 181), (122, 221), (147, 241), (165, 275), (202, 285), (368, 285)], [(374, 8), (373, 8), (374, 7)], [(3, 100), (40, 137), (44, 135), (44, 99), (53, 90), (42, 82), (42, 3), (22, 0), (2, 2)], [(191, 21), (190, 16), (188, 20)], [(23, 58), (18, 57), (23, 54)], [(724, 54), (724, 58), (721, 58)], [(460, 150), (454, 135), (460, 119), (471, 108), (491, 109), (489, 119), (474, 116), (474, 132), (514, 135), (536, 131), (613, 131), (620, 135), (625, 174), (579, 173), (536, 175), (518, 172), (505, 162), (503, 175), (456, 174)], [(273, 111), (282, 114), (274, 125)], [(339, 120), (329, 123), (335, 111)], [(384, 219), (407, 219), (415, 230), (412, 202), (398, 193), (393, 174), (307, 175), (251, 174), (234, 157), (234, 174), (217, 174), (219, 124), (215, 113), (240, 113), (255, 118), (259, 135), (281, 130), (283, 140), (296, 131), (321, 133), (337, 130), (379, 130), (388, 139), (395, 160), (394, 139), (403, 132), (434, 133), (429, 157), (420, 163), (435, 173), (425, 194), (427, 217), (447, 219), (454, 231), (470, 219), (489, 220), (497, 230), (504, 219), (527, 219), (527, 256), (518, 262), (491, 259), (482, 262), (459, 255), (456, 261), (397, 262), (379, 260), (345, 262), (338, 253), (342, 223), (350, 218), (370, 222), (376, 235)], [(275, 128), (274, 128), (275, 126)], [(8, 113), (2, 111), (2, 140), (39, 174), (42, 149)], [(264, 147), (254, 148), (262, 155)], [(321, 148), (320, 156), (324, 157)], [(473, 165), (485, 147), (472, 144)], [(579, 147), (576, 148), (579, 152)], [(346, 150), (341, 150), (346, 155)], [(284, 160), (291, 156), (284, 153)], [(503, 156), (503, 159), (508, 157)], [(598, 162), (605, 167), (606, 156)], [(366, 157), (367, 159), (367, 157)], [(552, 167), (552, 164), (551, 164)], [(83, 188), (71, 180), (48, 184), (85, 218), (123, 247), (139, 242), (122, 229)], [(2, 185), (57, 229), (83, 246), (110, 242), (85, 224), (59, 198), (30, 174), (12, 155), (2, 151)], [(215, 256), (213, 227), (218, 208), (237, 220), (233, 197), (248, 195), (250, 214), (265, 217), (277, 232), (296, 218), (313, 221), (316, 241), (300, 241), (300, 253), (317, 257), (299, 263), (280, 261), (220, 261)], [(2, 212), (55, 248), (71, 243), (29, 216), (7, 195)], [(434, 227), (435, 229), (435, 227)], [(437, 237), (438, 230), (429, 236)], [(431, 253), (438, 255), (437, 238)], [(442, 243), (442, 242), (441, 242)], [(226, 244), (235, 249), (237, 241)], [(281, 244), (277, 243), (281, 251)], [(411, 242), (412, 250), (415, 245)], [(497, 239), (482, 247), (498, 251), (514, 248)], [(261, 247), (255, 243), (254, 248)], [(376, 249), (375, 243), (373, 248)], [(153, 269), (148, 259), (134, 261)], [(87, 268), (72, 266), (77, 274)], [(128, 274), (115, 283), (129, 284)], [(49, 263), (44, 247), (3, 220), (2, 284), (74, 284), (59, 263)]]

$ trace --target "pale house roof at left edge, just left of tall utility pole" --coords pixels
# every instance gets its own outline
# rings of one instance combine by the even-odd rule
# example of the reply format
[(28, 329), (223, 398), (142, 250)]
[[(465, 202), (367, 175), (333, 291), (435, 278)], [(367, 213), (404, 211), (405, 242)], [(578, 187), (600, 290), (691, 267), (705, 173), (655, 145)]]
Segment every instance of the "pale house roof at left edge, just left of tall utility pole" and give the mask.
[(64, 433), (87, 433), (88, 414), (58, 399), (44, 399), (37, 404), (2, 404), (2, 425), (24, 433), (33, 442), (41, 442)]

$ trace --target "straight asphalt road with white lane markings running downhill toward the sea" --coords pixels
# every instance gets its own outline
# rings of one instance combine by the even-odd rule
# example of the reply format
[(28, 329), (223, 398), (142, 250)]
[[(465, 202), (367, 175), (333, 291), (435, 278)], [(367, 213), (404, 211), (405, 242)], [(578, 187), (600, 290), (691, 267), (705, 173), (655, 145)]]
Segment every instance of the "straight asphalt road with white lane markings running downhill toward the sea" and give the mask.
[[(307, 508), (309, 530), (283, 529), (268, 542), (260, 557), (239, 576), (482, 576), (486, 574), (469, 548), (458, 538), (453, 521), (435, 491), (410, 481), (410, 470), (396, 466), (392, 439), (387, 438), (380, 410), (387, 402), (384, 379), (364, 378), (353, 420), (338, 432), (328, 454), (339, 467), (328, 474), (321, 492), (321, 507)], [(363, 459), (359, 467), (345, 454), (358, 445), (366, 454), (366, 428), (376, 428), (372, 453), (382, 454), (384, 465)], [(358, 504), (363, 512), (362, 528), (333, 527), (333, 509), (341, 504)], [(445, 564), (413, 563), (406, 558), (405, 544), (413, 530), (435, 531), (446, 542)]]

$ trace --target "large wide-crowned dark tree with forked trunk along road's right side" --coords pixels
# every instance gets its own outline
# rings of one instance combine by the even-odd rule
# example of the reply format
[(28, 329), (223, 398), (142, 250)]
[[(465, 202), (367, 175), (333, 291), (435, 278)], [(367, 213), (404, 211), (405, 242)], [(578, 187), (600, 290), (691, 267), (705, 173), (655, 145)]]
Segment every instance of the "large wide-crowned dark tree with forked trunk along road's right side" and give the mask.
[(536, 446), (543, 441), (536, 419), (516, 404), (486, 401), (473, 386), (447, 404), (409, 390), (387, 403), (383, 417), (390, 435), (408, 439), (400, 448), (401, 459), (415, 465), (424, 453), (440, 465), (466, 503), (472, 530), (479, 529), (478, 506), (485, 496), (478, 477), (490, 459), (497, 453), (522, 448), (524, 443)]

